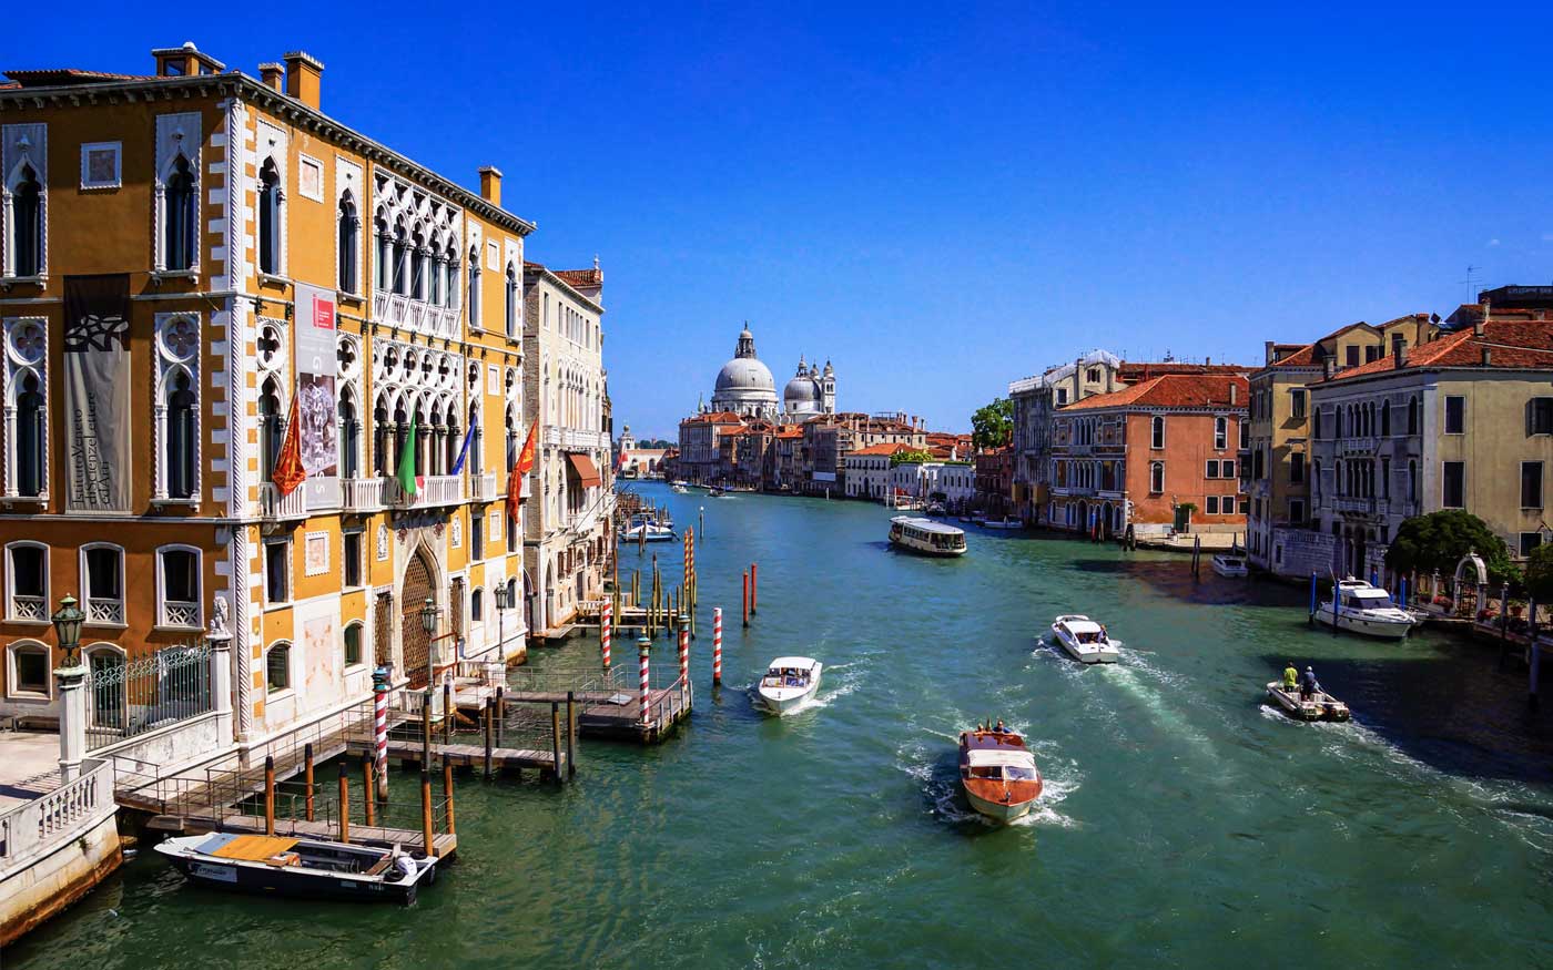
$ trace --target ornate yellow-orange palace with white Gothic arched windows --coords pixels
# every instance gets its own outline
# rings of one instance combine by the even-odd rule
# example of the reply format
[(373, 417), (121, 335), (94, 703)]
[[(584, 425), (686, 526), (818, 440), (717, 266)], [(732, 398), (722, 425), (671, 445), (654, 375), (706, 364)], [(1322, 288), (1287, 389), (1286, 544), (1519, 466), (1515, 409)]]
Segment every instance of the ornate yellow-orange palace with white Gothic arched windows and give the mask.
[(533, 223), (329, 118), (304, 53), (154, 61), (0, 84), (0, 715), (53, 712), (65, 594), (96, 670), (230, 632), (239, 743), (516, 658)]

